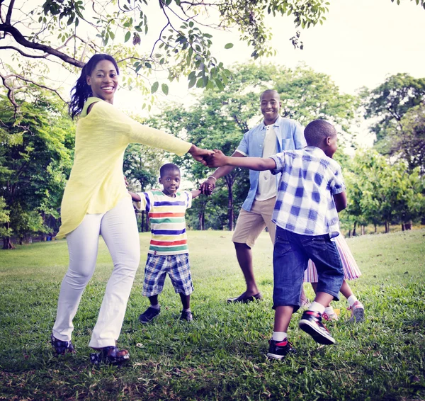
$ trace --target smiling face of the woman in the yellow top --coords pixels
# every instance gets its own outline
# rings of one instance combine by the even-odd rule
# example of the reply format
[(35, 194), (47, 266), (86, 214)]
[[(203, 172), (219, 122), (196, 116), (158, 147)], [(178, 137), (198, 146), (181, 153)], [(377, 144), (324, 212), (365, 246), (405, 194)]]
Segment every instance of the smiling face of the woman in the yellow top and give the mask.
[(109, 60), (101, 60), (90, 75), (86, 77), (91, 87), (92, 96), (113, 103), (113, 96), (118, 88), (118, 72)]

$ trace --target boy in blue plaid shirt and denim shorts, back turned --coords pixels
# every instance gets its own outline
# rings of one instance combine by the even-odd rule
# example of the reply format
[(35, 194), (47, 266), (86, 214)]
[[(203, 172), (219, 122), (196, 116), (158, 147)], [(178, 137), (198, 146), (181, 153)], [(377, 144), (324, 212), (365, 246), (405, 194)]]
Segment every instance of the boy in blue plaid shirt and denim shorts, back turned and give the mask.
[(314, 120), (304, 130), (307, 147), (288, 150), (269, 158), (227, 157), (220, 151), (209, 157), (208, 166), (239, 166), (281, 174), (273, 222), (273, 309), (275, 322), (267, 356), (281, 359), (295, 349), (288, 341), (288, 327), (300, 308), (302, 278), (309, 259), (317, 266), (317, 294), (299, 322), (300, 329), (319, 344), (335, 340), (322, 324), (322, 313), (338, 300), (344, 279), (334, 237), (339, 235), (338, 212), (346, 208), (341, 167), (332, 157), (337, 134), (333, 125)]

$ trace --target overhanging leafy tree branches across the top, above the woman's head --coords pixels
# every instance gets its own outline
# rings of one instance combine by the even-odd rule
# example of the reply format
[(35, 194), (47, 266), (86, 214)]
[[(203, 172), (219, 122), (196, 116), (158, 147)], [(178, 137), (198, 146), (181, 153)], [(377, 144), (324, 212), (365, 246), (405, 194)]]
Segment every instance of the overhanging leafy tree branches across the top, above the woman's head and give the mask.
[(229, 72), (213, 54), (217, 30), (237, 30), (256, 59), (274, 54), (267, 16), (292, 18), (288, 39), (302, 48), (297, 29), (324, 23), (328, 7), (327, 0), (0, 0), (0, 78), (18, 108), (29, 84), (62, 96), (53, 68), (76, 73), (91, 55), (106, 52), (118, 60), (122, 84), (144, 94), (168, 94), (157, 72), (169, 81), (187, 77), (189, 87), (222, 89)]

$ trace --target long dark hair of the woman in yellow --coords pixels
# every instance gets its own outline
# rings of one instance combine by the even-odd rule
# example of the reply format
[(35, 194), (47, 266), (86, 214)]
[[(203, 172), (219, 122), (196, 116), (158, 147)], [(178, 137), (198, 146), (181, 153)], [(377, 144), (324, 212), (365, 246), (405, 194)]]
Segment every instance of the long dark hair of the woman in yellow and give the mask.
[(117, 74), (120, 74), (117, 62), (112, 56), (100, 54), (91, 57), (91, 59), (86, 62), (86, 64), (84, 64), (84, 67), (81, 70), (81, 75), (79, 79), (77, 79), (77, 83), (75, 84), (74, 88), (71, 90), (71, 101), (69, 102), (68, 113), (71, 115), (72, 119), (81, 113), (84, 107), (84, 103), (86, 103), (86, 100), (92, 95), (91, 87), (87, 84), (86, 77), (87, 75), (91, 75), (91, 72), (93, 72), (97, 63), (102, 60), (108, 60), (112, 62), (115, 69), (117, 70)]

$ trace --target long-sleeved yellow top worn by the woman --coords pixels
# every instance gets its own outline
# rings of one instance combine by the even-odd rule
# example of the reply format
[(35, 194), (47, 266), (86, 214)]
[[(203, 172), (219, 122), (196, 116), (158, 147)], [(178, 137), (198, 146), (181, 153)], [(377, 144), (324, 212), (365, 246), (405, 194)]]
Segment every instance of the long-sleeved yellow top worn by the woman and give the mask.
[[(87, 115), (87, 108), (97, 102)], [(57, 238), (75, 230), (86, 214), (105, 213), (128, 194), (123, 157), (130, 143), (141, 143), (179, 156), (191, 144), (132, 120), (111, 103), (89, 98), (77, 123), (74, 165), (61, 205), (62, 225)]]

